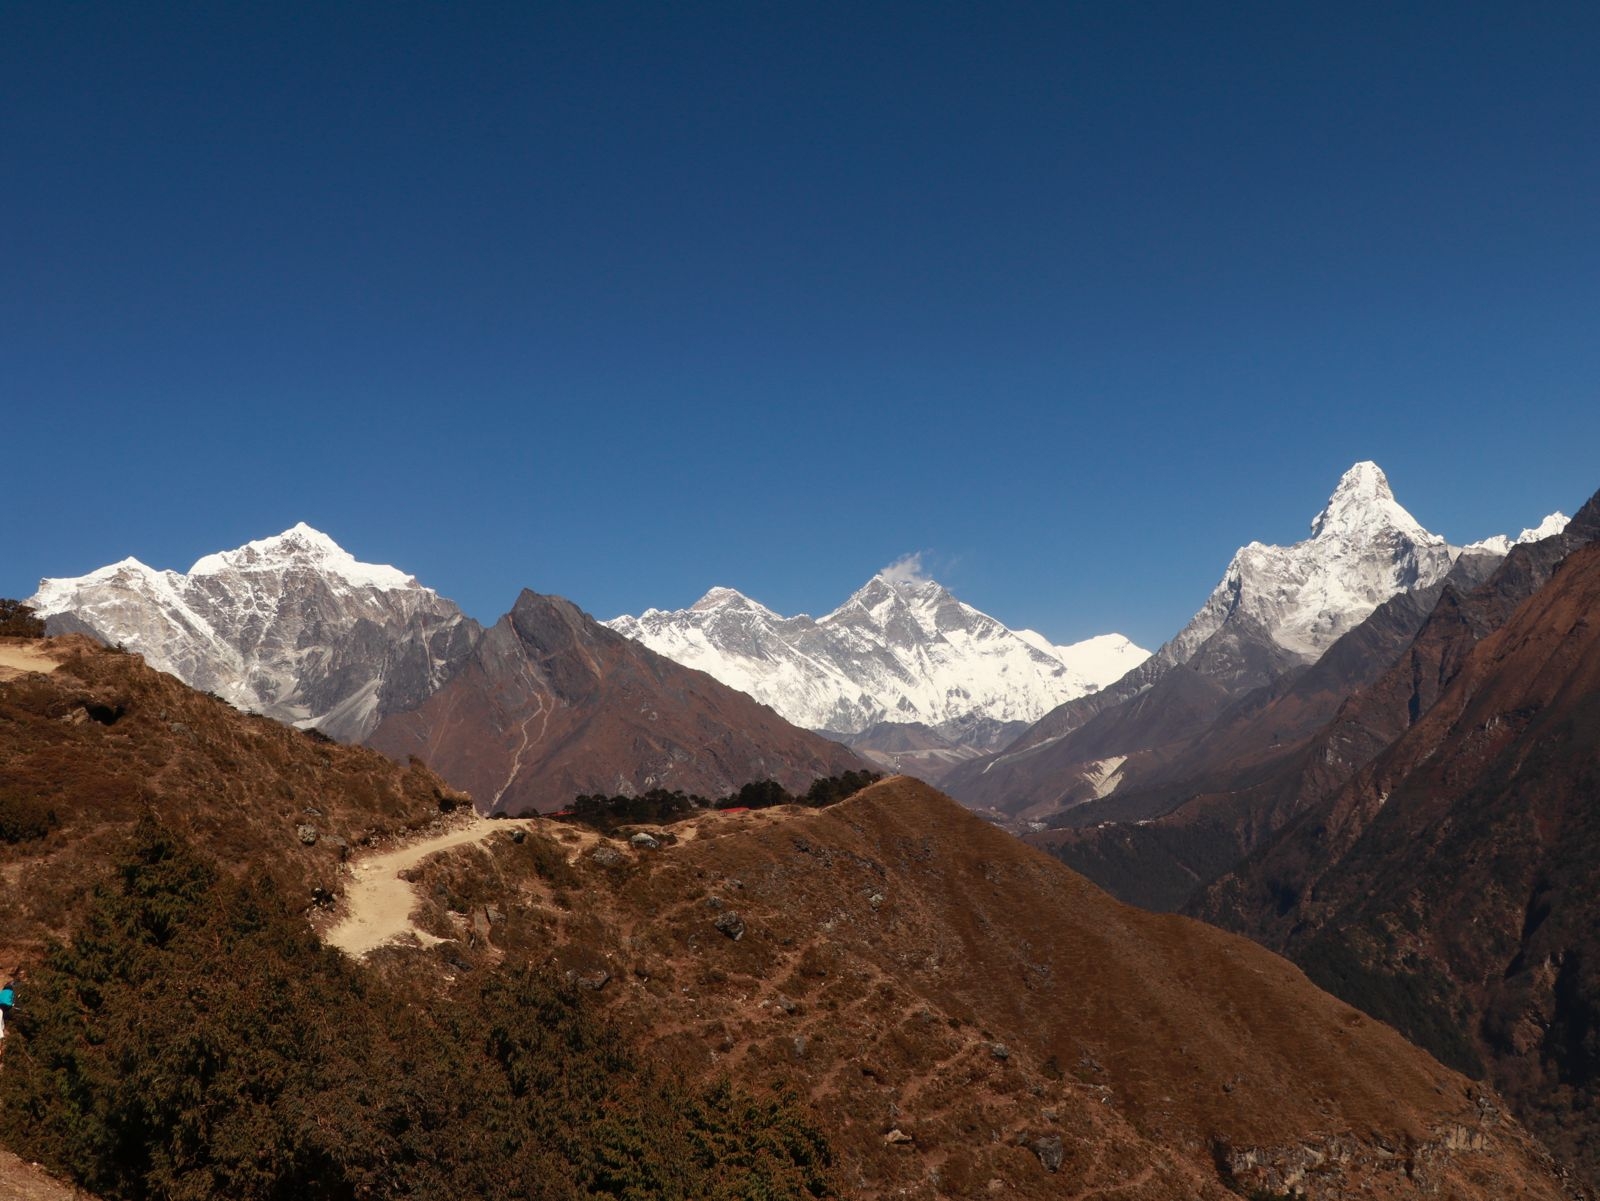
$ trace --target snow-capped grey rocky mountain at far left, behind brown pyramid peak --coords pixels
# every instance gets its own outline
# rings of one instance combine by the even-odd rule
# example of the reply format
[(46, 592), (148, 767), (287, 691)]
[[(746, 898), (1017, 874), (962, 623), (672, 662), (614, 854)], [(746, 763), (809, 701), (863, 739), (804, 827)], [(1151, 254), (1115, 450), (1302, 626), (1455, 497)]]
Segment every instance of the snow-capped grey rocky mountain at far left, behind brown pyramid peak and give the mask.
[(389, 566), (358, 563), (306, 525), (187, 573), (134, 558), (46, 579), (29, 601), (53, 633), (90, 633), (230, 704), (358, 742), (434, 692), (477, 622)]

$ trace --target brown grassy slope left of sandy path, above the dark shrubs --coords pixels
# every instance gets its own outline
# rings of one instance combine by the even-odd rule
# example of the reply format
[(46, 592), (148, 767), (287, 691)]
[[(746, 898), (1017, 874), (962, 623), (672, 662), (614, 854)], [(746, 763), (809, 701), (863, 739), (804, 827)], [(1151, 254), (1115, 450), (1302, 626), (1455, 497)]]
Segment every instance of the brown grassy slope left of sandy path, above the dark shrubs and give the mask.
[(146, 812), (309, 902), (346, 852), (464, 800), (421, 766), (242, 715), (82, 635), (26, 646), (59, 665), (0, 678), (3, 971), (70, 928)]

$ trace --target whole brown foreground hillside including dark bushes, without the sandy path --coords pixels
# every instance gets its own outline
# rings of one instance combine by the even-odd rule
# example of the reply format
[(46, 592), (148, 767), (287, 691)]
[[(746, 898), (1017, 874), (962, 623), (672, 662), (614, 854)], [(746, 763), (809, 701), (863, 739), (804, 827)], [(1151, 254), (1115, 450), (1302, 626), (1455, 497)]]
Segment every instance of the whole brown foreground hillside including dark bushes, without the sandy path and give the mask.
[[(466, 798), (136, 656), (42, 648), (53, 672), (0, 681), (8, 795), (38, 801), (0, 844), (27, 881), (3, 953), (29, 964), (5, 1139), (102, 1196), (590, 1196), (624, 1164), (710, 1196), (667, 1158), (693, 1140), (728, 1196), (1576, 1195), (1493, 1092), (1285, 961), (1123, 907), (904, 777), (600, 836), (506, 822), (414, 870), (429, 945), (350, 963), (304, 915), (325, 928), (349, 859)], [(219, 1067), (170, 1091), (194, 1054)], [(139, 1150), (107, 1159), (93, 1131), (117, 1123)]]

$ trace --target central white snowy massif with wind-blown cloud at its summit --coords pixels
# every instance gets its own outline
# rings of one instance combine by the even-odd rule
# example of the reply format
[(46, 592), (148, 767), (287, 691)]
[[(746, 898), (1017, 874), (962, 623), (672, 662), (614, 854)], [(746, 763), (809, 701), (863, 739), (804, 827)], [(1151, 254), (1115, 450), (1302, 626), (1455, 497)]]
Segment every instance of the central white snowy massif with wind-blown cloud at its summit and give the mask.
[(606, 622), (707, 672), (789, 721), (856, 734), (878, 723), (946, 731), (1034, 721), (1147, 657), (1122, 635), (1074, 646), (1019, 633), (958, 601), (915, 557), (877, 573), (824, 617), (784, 617), (733, 589), (688, 609)]

